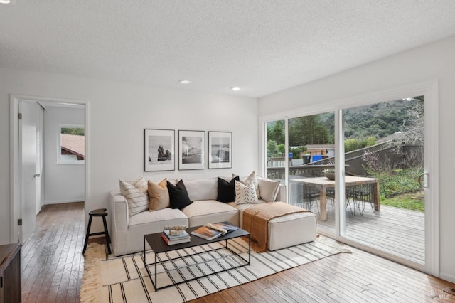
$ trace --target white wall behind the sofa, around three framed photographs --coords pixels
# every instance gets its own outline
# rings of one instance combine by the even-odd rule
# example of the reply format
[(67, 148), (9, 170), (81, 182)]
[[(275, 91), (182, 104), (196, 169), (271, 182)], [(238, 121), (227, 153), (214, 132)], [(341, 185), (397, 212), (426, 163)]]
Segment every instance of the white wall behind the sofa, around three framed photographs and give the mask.
[[(257, 170), (255, 98), (0, 68), (0, 244), (10, 238), (10, 93), (87, 100), (86, 213), (107, 207), (109, 191), (119, 188), (121, 178), (246, 176)], [(232, 169), (144, 172), (146, 128), (232, 132)]]

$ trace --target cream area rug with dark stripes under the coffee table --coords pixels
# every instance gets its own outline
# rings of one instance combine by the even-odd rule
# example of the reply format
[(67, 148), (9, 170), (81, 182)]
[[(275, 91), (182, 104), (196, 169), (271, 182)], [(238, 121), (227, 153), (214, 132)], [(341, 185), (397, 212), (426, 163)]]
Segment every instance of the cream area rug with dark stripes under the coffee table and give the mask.
[[(247, 259), (247, 243), (240, 238), (229, 241), (229, 247), (241, 252), (241, 255)], [(213, 248), (222, 247), (223, 243), (211, 243), (197, 248), (177, 250), (167, 255), (161, 254), (160, 256), (165, 259), (176, 256), (183, 258), (166, 262), (167, 271), (160, 266), (157, 268), (158, 286), (168, 285), (172, 281), (181, 281), (183, 277), (187, 279), (199, 277), (201, 273), (207, 274), (220, 268), (226, 269), (237, 265), (238, 260), (228, 250), (208, 252)], [(203, 253), (193, 257), (188, 256), (194, 252)], [(349, 251), (343, 249), (343, 245), (336, 243), (335, 240), (324, 237), (319, 237), (311, 243), (273, 252), (257, 253), (252, 250), (251, 265), (200, 277), (197, 280), (155, 292), (144, 268), (142, 253), (106, 257), (105, 245), (91, 243), (85, 253), (80, 300), (81, 302), (186, 302), (341, 252)], [(153, 260), (154, 252), (147, 252), (147, 263)], [(154, 271), (153, 267), (151, 269)]]

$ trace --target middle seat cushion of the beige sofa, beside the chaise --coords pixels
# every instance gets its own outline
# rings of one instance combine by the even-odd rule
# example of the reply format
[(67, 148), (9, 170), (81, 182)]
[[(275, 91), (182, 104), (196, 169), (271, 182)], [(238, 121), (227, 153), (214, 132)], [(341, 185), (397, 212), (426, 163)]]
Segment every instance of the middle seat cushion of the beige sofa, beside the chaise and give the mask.
[(215, 200), (194, 201), (193, 204), (186, 206), (182, 211), (188, 216), (190, 227), (223, 221), (228, 221), (236, 226), (239, 224), (237, 209), (228, 203)]

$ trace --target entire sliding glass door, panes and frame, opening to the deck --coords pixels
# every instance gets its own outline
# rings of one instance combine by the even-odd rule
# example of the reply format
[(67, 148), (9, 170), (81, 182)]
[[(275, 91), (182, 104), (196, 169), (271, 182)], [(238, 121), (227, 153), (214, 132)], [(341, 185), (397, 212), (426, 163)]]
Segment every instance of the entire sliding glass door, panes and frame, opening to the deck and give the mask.
[(435, 87), (267, 122), (267, 176), (321, 235), (438, 275)]

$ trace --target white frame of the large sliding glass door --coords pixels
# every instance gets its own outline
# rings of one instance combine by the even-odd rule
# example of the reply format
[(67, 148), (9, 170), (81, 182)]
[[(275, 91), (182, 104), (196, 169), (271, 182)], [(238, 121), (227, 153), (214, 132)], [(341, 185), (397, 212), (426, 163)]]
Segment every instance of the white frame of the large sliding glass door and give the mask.
[[(390, 100), (398, 100), (406, 97), (414, 97), (424, 95), (424, 173), (429, 174), (429, 188), (424, 188), (425, 196), (425, 264), (419, 264), (402, 257), (397, 257), (387, 252), (382, 252), (367, 245), (362, 245), (349, 238), (346, 238), (344, 233), (344, 223), (346, 222), (345, 212), (340, 207), (340, 197), (344, 197), (344, 132), (342, 123), (343, 110), (350, 107), (358, 107), (361, 105), (369, 105), (379, 102), (387, 102)], [(438, 82), (437, 80), (425, 83), (416, 83), (404, 87), (396, 87), (390, 90), (373, 92), (368, 95), (359, 95), (355, 97), (345, 98), (343, 100), (333, 100), (332, 102), (324, 103), (323, 105), (305, 107), (292, 110), (289, 112), (277, 113), (265, 117), (259, 117), (259, 129), (261, 136), (259, 137), (259, 173), (267, 174), (267, 122), (276, 120), (285, 121), (285, 138), (286, 138), (286, 154), (289, 154), (288, 142), (288, 120), (293, 117), (302, 117), (316, 115), (323, 112), (334, 112), (335, 114), (335, 168), (336, 168), (336, 187), (335, 187), (335, 235), (327, 235), (336, 240), (351, 245), (355, 248), (360, 248), (368, 252), (372, 252), (380, 257), (399, 262), (403, 265), (427, 272), (430, 275), (439, 277), (439, 129), (437, 118), (439, 113), (438, 107)], [(287, 199), (289, 201), (289, 163), (285, 161), (285, 184), (287, 185)], [(344, 200), (344, 199), (343, 199)], [(343, 223), (343, 225), (341, 225)]]

